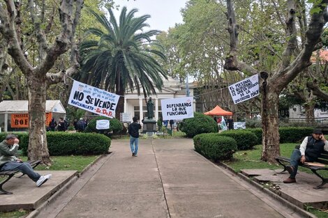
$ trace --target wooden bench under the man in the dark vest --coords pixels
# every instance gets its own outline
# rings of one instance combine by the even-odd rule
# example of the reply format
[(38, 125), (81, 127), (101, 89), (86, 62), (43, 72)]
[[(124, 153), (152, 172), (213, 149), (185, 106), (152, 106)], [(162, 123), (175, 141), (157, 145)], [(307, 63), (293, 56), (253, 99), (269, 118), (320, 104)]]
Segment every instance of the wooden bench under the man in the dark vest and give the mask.
[[(295, 148), (299, 149), (299, 146), (296, 146)], [(281, 171), (280, 173), (285, 172), (287, 170), (286, 169), (287, 165), (284, 163), (285, 162), (290, 163), (290, 159), (287, 157), (276, 157), (276, 161), (279, 164), (283, 165), (283, 171)], [(316, 162), (318, 162), (320, 164), (328, 164), (328, 152), (324, 151), (323, 153), (321, 153)], [(328, 183), (328, 178), (324, 178), (317, 172), (317, 171), (328, 171), (327, 166), (309, 166), (309, 165), (301, 164), (301, 163), (299, 163), (299, 166), (303, 166), (305, 168), (311, 169), (311, 171), (322, 180), (321, 184), (318, 185), (317, 187), (313, 187), (313, 189), (320, 189), (320, 188), (322, 188), (322, 186), (324, 186), (326, 183)]]

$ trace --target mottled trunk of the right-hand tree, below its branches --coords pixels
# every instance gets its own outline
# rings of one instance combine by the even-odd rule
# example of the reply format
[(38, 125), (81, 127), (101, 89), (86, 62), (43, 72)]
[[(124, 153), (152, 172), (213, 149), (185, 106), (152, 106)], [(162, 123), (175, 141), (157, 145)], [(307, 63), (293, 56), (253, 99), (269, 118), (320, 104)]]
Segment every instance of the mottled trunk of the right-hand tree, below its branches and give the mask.
[[(261, 75), (262, 77), (262, 75)], [(263, 77), (262, 77), (263, 78)], [(267, 84), (273, 84), (267, 86)], [(274, 81), (264, 79), (262, 86), (262, 157), (265, 162), (276, 163), (275, 157), (280, 155), (278, 102), (279, 93)]]

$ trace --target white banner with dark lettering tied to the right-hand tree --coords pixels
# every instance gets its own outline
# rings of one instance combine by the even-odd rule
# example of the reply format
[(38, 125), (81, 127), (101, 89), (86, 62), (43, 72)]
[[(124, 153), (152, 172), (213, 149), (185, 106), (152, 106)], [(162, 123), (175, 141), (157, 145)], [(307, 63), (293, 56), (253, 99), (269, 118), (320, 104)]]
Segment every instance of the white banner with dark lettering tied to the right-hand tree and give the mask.
[(230, 95), (234, 104), (244, 102), (260, 95), (258, 75), (253, 75), (229, 86)]

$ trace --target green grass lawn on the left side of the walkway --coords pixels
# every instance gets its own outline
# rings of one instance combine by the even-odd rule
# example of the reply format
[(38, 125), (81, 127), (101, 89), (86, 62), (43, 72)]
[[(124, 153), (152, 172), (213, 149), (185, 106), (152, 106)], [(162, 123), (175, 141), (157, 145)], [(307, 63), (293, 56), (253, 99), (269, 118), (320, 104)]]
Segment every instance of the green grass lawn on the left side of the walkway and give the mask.
[[(54, 156), (52, 159), (52, 166), (36, 166), (38, 171), (70, 171), (75, 170), (81, 173), (85, 167), (94, 162), (99, 155), (92, 156)], [(24, 161), (27, 161), (27, 157), (20, 157)], [(0, 180), (3, 178), (0, 178)], [(1, 218), (20, 218), (29, 214), (29, 211), (19, 210), (14, 212), (0, 212)]]

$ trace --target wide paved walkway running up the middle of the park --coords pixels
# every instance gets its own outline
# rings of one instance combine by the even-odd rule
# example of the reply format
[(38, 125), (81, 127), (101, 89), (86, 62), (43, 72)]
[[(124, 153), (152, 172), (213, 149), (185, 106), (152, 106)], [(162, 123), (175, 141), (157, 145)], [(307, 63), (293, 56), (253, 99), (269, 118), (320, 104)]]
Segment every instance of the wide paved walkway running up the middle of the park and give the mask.
[(30, 217), (299, 217), (195, 153), (192, 139), (141, 140), (138, 157), (128, 140), (113, 140), (110, 150)]

